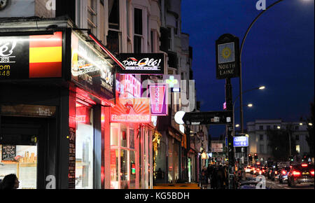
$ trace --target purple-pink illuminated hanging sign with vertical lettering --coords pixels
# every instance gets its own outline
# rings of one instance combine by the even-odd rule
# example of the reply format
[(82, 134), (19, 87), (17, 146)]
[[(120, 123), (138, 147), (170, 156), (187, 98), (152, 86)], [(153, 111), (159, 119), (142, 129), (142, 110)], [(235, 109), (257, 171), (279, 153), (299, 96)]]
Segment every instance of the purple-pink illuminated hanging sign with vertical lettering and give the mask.
[(167, 85), (149, 85), (151, 99), (151, 113), (154, 116), (166, 116), (167, 106)]

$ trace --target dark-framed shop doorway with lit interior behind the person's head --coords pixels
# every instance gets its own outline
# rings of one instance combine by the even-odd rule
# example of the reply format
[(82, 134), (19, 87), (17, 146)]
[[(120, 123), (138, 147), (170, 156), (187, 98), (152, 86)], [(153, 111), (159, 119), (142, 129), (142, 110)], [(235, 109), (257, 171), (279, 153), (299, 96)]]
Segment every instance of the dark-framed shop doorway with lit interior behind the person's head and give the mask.
[(43, 188), (45, 119), (1, 116), (0, 179), (16, 174), (18, 189)]

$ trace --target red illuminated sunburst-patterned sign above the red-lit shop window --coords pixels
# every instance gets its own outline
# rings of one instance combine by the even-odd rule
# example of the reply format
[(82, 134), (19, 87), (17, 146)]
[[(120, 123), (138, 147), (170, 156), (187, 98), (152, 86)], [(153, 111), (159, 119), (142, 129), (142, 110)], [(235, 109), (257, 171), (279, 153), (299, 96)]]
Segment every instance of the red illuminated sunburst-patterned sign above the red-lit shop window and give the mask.
[(151, 123), (150, 101), (148, 98), (119, 98), (111, 108), (112, 123)]

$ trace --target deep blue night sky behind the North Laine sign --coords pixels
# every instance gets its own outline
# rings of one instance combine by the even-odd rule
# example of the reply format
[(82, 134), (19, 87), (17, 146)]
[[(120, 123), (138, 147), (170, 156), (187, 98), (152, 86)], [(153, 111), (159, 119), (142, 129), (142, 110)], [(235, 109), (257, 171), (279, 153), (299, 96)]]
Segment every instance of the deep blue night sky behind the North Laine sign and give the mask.
[[(197, 100), (201, 111), (223, 111), (225, 80), (216, 79), (215, 42), (225, 33), (244, 38), (262, 11), (258, 0), (182, 0), (182, 31), (190, 35)], [(267, 6), (276, 0), (266, 0)], [(260, 16), (244, 43), (242, 60), (244, 129), (256, 119), (299, 121), (310, 114), (314, 101), (314, 0), (283, 0)], [(233, 102), (239, 78), (232, 78)], [(239, 101), (235, 104), (239, 124)], [(210, 127), (212, 137), (225, 126)]]

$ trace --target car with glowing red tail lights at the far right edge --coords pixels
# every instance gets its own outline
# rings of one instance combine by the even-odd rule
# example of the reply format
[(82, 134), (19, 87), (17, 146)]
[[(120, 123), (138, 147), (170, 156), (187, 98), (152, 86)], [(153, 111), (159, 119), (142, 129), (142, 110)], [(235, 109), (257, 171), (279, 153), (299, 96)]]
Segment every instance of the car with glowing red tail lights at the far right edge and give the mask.
[(314, 185), (314, 164), (292, 165), (288, 173), (288, 186)]

